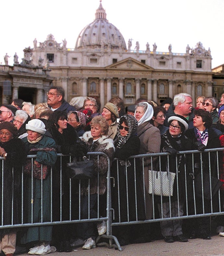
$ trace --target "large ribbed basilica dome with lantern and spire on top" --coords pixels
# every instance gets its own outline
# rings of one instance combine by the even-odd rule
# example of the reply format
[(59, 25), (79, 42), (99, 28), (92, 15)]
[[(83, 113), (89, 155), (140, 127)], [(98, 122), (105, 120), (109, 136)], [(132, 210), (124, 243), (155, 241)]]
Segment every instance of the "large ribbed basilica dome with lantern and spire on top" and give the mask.
[(95, 20), (88, 24), (78, 35), (76, 49), (127, 49), (123, 35), (113, 24), (108, 22), (106, 17), (107, 14), (100, 0), (100, 6), (95, 13)]

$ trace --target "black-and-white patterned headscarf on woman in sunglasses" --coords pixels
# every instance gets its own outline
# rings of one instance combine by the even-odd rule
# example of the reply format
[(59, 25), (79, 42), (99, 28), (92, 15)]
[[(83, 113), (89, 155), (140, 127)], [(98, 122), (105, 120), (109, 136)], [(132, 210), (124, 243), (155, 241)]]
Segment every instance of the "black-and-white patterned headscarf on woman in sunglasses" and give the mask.
[[(125, 118), (126, 119), (126, 122), (127, 122), (127, 126), (128, 126), (128, 133), (126, 134), (126, 136), (122, 136), (121, 133), (120, 133), (120, 125), (123, 123), (122, 122), (122, 119)], [(138, 128), (138, 122), (136, 120), (136, 118), (134, 116), (131, 116), (131, 115), (124, 115), (120, 118), (119, 120), (119, 123), (118, 123), (118, 126), (117, 126), (117, 137), (118, 137), (118, 140), (117, 140), (117, 146), (116, 148), (121, 148), (124, 146), (124, 144), (127, 142), (127, 140), (136, 134), (137, 132), (137, 128)], [(123, 160), (119, 160), (120, 164), (121, 165), (125, 165), (125, 161)], [(131, 163), (129, 160), (127, 160), (127, 166), (130, 166)]]

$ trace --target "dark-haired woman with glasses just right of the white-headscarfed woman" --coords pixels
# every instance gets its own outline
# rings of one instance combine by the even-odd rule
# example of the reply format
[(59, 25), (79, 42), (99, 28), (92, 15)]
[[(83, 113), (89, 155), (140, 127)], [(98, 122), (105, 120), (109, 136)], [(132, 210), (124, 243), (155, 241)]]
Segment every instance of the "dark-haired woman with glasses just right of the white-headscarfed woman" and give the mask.
[(161, 106), (157, 106), (154, 108), (153, 117), (150, 120), (150, 123), (159, 129), (161, 135), (163, 135), (169, 129), (164, 125), (164, 121), (166, 119), (165, 114), (166, 110)]

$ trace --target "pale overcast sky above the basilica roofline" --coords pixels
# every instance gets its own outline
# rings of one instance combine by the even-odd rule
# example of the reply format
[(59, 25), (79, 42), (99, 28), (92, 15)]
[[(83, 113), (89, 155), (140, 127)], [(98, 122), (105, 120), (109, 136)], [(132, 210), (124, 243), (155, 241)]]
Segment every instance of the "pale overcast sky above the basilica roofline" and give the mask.
[[(79, 32), (95, 19), (99, 0), (11, 0), (1, 1), (0, 63), (8, 53), (9, 65), (17, 52), (19, 62), (23, 49), (33, 47), (36, 37), (44, 42), (53, 34), (60, 43), (66, 38), (67, 47), (74, 48)], [(224, 0), (102, 0), (107, 19), (123, 34), (126, 45), (132, 38), (134, 50), (146, 43), (157, 44), (157, 51), (185, 53), (186, 46), (197, 42), (211, 49), (212, 68), (224, 63)], [(38, 44), (39, 45), (39, 44)]]

